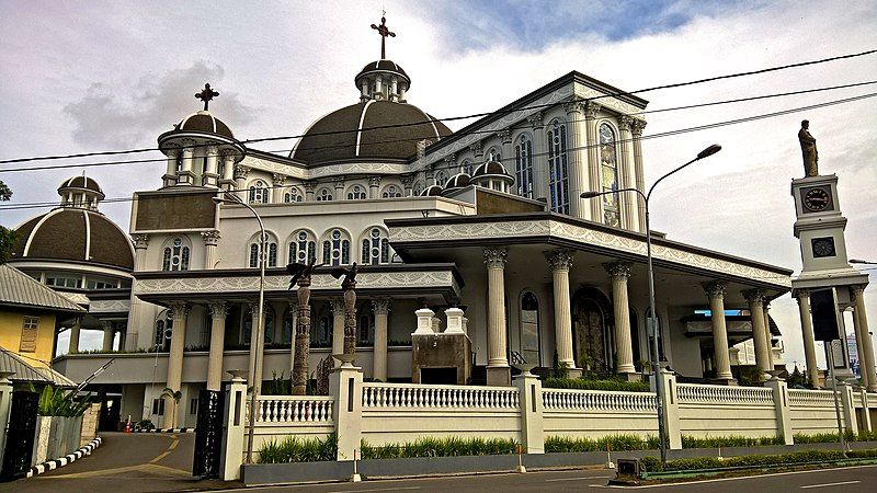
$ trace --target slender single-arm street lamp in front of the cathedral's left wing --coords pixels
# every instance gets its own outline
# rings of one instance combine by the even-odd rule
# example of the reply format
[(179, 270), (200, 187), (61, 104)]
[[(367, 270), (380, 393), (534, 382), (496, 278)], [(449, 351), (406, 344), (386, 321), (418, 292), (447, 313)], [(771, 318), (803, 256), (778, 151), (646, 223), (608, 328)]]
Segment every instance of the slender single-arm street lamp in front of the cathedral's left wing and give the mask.
[[(255, 211), (249, 204), (241, 200), (240, 197), (237, 195), (226, 193), (227, 197), (230, 199), (221, 198), (221, 197), (213, 197), (213, 202), (216, 204), (234, 204), (234, 205), (241, 205), (247, 207), (253, 216), (255, 216), (255, 220), (259, 221), (259, 308), (257, 309), (257, 322), (255, 322), (255, 344), (250, 344), (250, 360), (252, 366), (252, 381), (250, 385), (252, 386), (252, 391), (250, 392), (250, 412), (249, 412), (249, 420), (250, 420), (250, 429), (247, 433), (247, 463), (253, 463), (253, 435), (255, 433), (255, 404), (259, 398), (259, 392), (262, 389), (262, 362), (260, 360), (260, 355), (263, 353), (263, 345), (265, 341), (265, 325), (264, 325), (264, 305), (265, 305), (265, 225), (262, 222), (262, 217), (259, 216), (259, 213)], [(255, 347), (253, 347), (255, 346)]]

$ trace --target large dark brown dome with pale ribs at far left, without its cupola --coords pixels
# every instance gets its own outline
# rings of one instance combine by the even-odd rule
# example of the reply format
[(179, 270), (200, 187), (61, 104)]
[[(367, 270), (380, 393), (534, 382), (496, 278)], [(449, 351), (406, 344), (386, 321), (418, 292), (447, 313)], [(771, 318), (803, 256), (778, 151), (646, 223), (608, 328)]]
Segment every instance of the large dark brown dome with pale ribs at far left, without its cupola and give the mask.
[(13, 261), (59, 260), (134, 270), (134, 248), (115, 222), (94, 210), (62, 207), (15, 229)]

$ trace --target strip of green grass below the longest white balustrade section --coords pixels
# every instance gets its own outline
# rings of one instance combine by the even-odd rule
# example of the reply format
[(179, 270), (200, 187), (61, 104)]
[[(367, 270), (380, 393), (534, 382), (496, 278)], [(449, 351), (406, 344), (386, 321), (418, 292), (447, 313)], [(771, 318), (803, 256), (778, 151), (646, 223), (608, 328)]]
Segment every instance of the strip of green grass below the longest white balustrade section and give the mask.
[(413, 457), (499, 456), (516, 454), (511, 438), (423, 437), (405, 444), (372, 446), (362, 440), (363, 459), (408, 459)]

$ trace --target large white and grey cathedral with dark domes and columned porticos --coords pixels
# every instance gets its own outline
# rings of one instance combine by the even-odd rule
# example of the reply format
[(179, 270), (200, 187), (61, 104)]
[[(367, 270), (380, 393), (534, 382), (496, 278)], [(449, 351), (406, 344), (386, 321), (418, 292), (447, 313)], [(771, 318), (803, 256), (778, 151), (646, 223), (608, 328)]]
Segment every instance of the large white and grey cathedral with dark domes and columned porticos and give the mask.
[[(372, 61), (354, 82), (351, 104), (315, 122), (288, 156), (241, 144), (234, 122), (218, 117), (221, 99), (208, 105), (218, 93), (198, 93), (204, 108), (158, 137), (163, 185), (134, 195), (133, 259), (127, 241), (88, 240), (84, 256), (71, 244), (65, 257), (70, 272), (89, 265), (101, 273), (95, 283), (115, 283), (110, 291), (130, 290), (119, 300), (126, 320), (92, 317), (121, 331), (122, 351), (70, 351), (56, 368), (79, 381), (115, 357), (93, 386), (122, 394), (123, 419), (191, 426), (197, 391), (220, 389), (228, 370), (255, 365), (262, 381), (289, 378), (297, 298), (285, 266), (314, 260), (314, 378), (343, 348), (331, 268), (354, 262), (355, 364), (366, 378), (454, 383), (466, 367), (465, 383), (506, 386), (519, 363), (640, 378), (650, 344), (646, 205), (633, 193), (580, 195), (645, 191), (647, 101), (572, 71), (452, 131), (412, 104), (413, 78), (397, 62)], [(41, 231), (62, 234), (58, 215), (95, 234), (105, 219), (95, 220), (94, 187), (62, 187), (60, 209), (22, 226), (33, 240), (19, 260), (48, 262), (34, 252)], [(263, 354), (250, 352), (260, 223)], [(722, 383), (734, 382), (738, 363), (773, 369), (779, 332), (768, 307), (790, 290), (791, 271), (654, 231), (651, 240), (660, 358), (681, 377)], [(47, 276), (49, 267), (31, 272)], [(430, 347), (445, 331), (459, 333), (460, 311), (468, 352), (457, 360), (468, 360), (448, 372), (429, 363)], [(433, 344), (412, 345), (415, 330)], [(117, 348), (107, 341), (107, 352)], [(754, 362), (738, 358), (743, 343)], [(162, 400), (164, 388), (182, 399)]]

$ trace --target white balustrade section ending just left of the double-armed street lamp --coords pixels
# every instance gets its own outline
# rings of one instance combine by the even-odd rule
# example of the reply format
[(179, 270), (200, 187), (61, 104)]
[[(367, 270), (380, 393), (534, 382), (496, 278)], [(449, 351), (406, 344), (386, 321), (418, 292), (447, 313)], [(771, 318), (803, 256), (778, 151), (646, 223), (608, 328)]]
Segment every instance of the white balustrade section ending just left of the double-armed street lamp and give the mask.
[(542, 403), (548, 410), (649, 411), (657, 409), (651, 392), (543, 389)]

